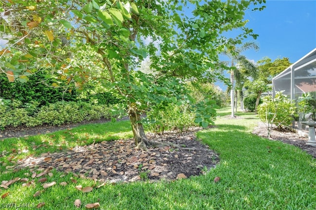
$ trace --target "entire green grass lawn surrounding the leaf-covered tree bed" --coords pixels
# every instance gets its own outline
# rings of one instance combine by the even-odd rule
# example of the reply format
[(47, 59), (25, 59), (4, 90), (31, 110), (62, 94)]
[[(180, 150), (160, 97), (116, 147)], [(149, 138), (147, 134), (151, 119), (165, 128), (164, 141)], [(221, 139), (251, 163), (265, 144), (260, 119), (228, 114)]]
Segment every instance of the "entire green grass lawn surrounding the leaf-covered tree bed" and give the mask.
[[(215, 128), (197, 133), (202, 142), (220, 154), (220, 164), (206, 175), (171, 182), (107, 184), (86, 193), (75, 186), (92, 186), (95, 185), (93, 181), (55, 170), (52, 170), (52, 177), (45, 177), (46, 182), (55, 181), (56, 184), (43, 189), (40, 177), (25, 175), (32, 175), (29, 170), (10, 172), (12, 163), (8, 158), (17, 160), (93, 141), (128, 138), (132, 136), (128, 121), (86, 125), (27, 139), (0, 141), (1, 153), (4, 150), (8, 152), (0, 157), (0, 181), (15, 177), (35, 180), (30, 185), (25, 184), (28, 186), (22, 186), (22, 182), (18, 181), (9, 185), (8, 189), (0, 188), (3, 197), (0, 198), (0, 208), (9, 209), (7, 207), (12, 203), (15, 206), (37, 206), (44, 202), (42, 209), (45, 210), (77, 209), (74, 201), (80, 199), (82, 209), (86, 204), (98, 202), (99, 209), (104, 210), (315, 210), (316, 160), (292, 145), (252, 135), (251, 130), (259, 121), (253, 113), (237, 113), (243, 117), (238, 119), (228, 119), (223, 117), (225, 115), (229, 115), (229, 109), (219, 111)], [(17, 154), (19, 149), (21, 153)], [(217, 183), (213, 181), (215, 176), (221, 177)], [(77, 183), (72, 181), (74, 179)], [(61, 186), (61, 182), (68, 184)], [(41, 193), (34, 197), (37, 191)]]

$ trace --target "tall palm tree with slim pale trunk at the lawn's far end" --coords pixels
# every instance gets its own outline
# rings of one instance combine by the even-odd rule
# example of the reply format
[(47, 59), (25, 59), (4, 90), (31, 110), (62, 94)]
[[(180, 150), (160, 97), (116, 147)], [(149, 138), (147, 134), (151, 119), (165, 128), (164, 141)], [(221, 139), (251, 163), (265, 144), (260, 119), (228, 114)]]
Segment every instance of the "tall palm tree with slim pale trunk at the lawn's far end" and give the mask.
[[(259, 46), (254, 42), (245, 42), (240, 47), (234, 47), (233, 49), (226, 50), (224, 53), (231, 60), (231, 70), (230, 70), (230, 80), (231, 80), (231, 108), (232, 108), (232, 117), (235, 117), (234, 113), (234, 104), (235, 104), (235, 83), (237, 85), (241, 84), (242, 74), (256, 78), (258, 70), (256, 65), (248, 60), (244, 55), (240, 55), (241, 52), (254, 49), (258, 50)], [(243, 69), (244, 73), (240, 70)], [(237, 107), (237, 101), (236, 101)]]

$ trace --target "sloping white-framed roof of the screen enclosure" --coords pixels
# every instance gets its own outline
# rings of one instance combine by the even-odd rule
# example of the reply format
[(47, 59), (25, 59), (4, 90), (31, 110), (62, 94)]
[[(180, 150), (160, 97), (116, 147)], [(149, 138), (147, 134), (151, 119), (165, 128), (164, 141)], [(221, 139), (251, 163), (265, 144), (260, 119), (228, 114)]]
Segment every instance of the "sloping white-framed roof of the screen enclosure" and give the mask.
[(294, 64), (292, 64), (291, 66), (289, 66), (287, 69), (283, 70), (281, 73), (277, 74), (274, 78), (278, 78), (280, 76), (284, 76), (288, 73), (291, 72), (291, 69), (294, 68), (294, 70), (299, 70), (303, 67), (306, 67), (308, 65), (311, 64), (315, 64), (316, 63), (316, 48), (313, 49), (311, 52), (309, 52), (308, 54), (306, 54), (304, 57), (302, 57), (301, 59), (299, 59), (298, 61), (296, 61)]

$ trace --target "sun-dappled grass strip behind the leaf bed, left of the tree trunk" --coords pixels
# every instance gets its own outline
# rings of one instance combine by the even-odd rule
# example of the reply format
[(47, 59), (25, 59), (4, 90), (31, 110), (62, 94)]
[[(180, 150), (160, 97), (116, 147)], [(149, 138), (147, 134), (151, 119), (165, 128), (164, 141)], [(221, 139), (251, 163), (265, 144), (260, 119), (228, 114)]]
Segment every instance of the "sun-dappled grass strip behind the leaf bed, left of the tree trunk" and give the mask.
[(40, 155), (43, 152), (60, 152), (77, 145), (83, 146), (104, 140), (132, 137), (130, 122), (118, 121), (115, 123), (87, 124), (73, 129), (31, 137), (3, 139), (0, 142), (0, 151), (3, 153), (0, 161), (7, 162), (6, 159), (10, 156), (13, 157), (13, 160), (19, 160), (30, 155)]

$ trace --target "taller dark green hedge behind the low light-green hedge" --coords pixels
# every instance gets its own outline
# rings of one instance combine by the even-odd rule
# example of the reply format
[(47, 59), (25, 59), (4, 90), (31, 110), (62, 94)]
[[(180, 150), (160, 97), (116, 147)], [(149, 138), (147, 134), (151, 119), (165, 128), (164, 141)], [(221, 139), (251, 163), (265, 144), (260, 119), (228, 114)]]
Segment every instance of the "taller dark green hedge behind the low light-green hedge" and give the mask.
[[(47, 77), (44, 71), (39, 71), (36, 74), (28, 76), (29, 81), (22, 83), (19, 81), (10, 82), (4, 73), (0, 73), (0, 98), (9, 100), (19, 100), (23, 104), (30, 103), (31, 101), (39, 103), (39, 106), (55, 104), (59, 101), (77, 102), (80, 101), (87, 103), (96, 103), (99, 105), (113, 105), (119, 103), (118, 98), (105, 90), (99, 90), (95, 93), (97, 82), (91, 82), (86, 88), (84, 93), (85, 97), (82, 98), (82, 92), (77, 92), (74, 87), (72, 91), (64, 90), (62, 88), (54, 88), (43, 84), (51, 84), (53, 80)], [(93, 90), (93, 91), (91, 91)]]

